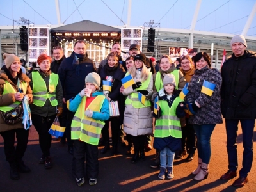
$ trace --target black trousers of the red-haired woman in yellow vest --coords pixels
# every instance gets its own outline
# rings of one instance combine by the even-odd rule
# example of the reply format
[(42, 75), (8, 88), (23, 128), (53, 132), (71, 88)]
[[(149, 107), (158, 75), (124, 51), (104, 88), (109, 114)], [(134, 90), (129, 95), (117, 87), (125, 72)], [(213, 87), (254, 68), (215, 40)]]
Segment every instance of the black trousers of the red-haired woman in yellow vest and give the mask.
[(49, 157), (50, 155), (50, 148), (52, 144), (52, 136), (49, 134), (49, 129), (51, 128), (52, 123), (54, 122), (56, 115), (52, 116), (40, 116), (36, 114), (32, 114), (32, 122), (36, 128), (36, 131), (39, 135), (39, 145), (43, 152), (42, 157)]

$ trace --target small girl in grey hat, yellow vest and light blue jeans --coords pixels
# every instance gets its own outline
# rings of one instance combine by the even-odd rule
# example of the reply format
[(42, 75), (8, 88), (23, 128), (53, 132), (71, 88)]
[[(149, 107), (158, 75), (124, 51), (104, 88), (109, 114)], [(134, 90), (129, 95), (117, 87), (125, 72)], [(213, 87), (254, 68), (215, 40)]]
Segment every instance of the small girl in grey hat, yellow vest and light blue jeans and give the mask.
[[(160, 172), (159, 179), (174, 177), (173, 160), (175, 151), (181, 148), (181, 126), (180, 118), (185, 116), (184, 100), (179, 97), (179, 90), (175, 90), (175, 77), (166, 74), (163, 79), (163, 86), (158, 94), (159, 107), (154, 132), (154, 148), (160, 151)], [(167, 160), (167, 161), (166, 161)]]

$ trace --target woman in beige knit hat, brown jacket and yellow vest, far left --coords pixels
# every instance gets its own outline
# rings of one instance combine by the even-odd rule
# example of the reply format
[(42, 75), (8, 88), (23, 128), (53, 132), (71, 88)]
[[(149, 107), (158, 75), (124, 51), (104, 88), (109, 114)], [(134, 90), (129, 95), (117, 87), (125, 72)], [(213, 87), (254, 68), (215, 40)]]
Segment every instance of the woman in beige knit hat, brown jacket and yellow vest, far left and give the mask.
[[(3, 54), (3, 58), (5, 65), (0, 71), (0, 111), (4, 113), (18, 106), (24, 95), (28, 96), (29, 102), (32, 102), (33, 96), (29, 86), (30, 79), (20, 69), (20, 58), (7, 53)], [(17, 87), (18, 79), (20, 90)], [(19, 172), (30, 172), (28, 166), (22, 161), (27, 148), (29, 131), (24, 129), (22, 121), (9, 125), (4, 122), (2, 115), (0, 115), (0, 134), (4, 139), (6, 161), (9, 162), (11, 168), (10, 177), (17, 180), (20, 178)], [(14, 147), (15, 134), (17, 138), (16, 148)]]

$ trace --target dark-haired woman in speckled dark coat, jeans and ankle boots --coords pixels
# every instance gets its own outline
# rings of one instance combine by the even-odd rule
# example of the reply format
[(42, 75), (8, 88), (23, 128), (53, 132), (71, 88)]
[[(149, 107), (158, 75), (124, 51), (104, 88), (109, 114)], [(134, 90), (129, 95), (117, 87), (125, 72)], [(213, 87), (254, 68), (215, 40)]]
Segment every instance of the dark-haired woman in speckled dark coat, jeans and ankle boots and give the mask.
[[(211, 134), (216, 124), (222, 123), (220, 110), (221, 75), (211, 68), (211, 59), (206, 52), (198, 52), (194, 58), (195, 74), (188, 86), (187, 102), (194, 115), (189, 116), (197, 138), (198, 167), (192, 172), (195, 180), (203, 180), (209, 175), (208, 164), (211, 158)], [(212, 92), (204, 92), (202, 86), (211, 83)], [(215, 87), (215, 88), (214, 88)]]

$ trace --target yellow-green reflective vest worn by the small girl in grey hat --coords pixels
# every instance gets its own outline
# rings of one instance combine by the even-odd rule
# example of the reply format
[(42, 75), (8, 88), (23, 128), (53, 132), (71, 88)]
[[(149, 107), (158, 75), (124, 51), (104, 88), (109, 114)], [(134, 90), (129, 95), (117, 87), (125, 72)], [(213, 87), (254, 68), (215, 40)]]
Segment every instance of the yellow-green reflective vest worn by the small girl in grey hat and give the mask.
[(166, 138), (168, 136), (175, 138), (182, 137), (180, 119), (176, 116), (176, 108), (179, 102), (182, 101), (184, 100), (180, 99), (180, 97), (176, 97), (171, 108), (169, 108), (166, 100), (159, 100), (162, 116), (156, 120), (154, 132), (156, 138)]

